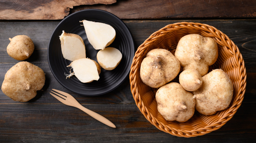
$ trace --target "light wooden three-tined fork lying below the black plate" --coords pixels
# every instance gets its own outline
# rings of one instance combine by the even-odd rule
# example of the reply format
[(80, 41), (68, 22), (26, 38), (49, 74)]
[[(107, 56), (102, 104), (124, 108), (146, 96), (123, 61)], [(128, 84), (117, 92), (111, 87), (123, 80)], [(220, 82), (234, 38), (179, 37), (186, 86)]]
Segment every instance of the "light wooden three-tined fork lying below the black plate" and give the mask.
[[(84, 106), (82, 106), (80, 103), (78, 103), (75, 98), (63, 91), (57, 90), (57, 89), (52, 89), (53, 93), (50, 92), (51, 95), (53, 95), (53, 97), (55, 97), (56, 99), (58, 99), (60, 102), (69, 105), (69, 106), (73, 106), (76, 107), (78, 109), (81, 109), (82, 111), (84, 111), (85, 113), (87, 113), (88, 115), (92, 116), (94, 119), (102, 122), (103, 124), (106, 124), (112, 128), (116, 128), (116, 126), (108, 119), (106, 119), (105, 117), (99, 115), (96, 112), (93, 112), (87, 108), (85, 108)], [(55, 92), (54, 92), (55, 91)]]

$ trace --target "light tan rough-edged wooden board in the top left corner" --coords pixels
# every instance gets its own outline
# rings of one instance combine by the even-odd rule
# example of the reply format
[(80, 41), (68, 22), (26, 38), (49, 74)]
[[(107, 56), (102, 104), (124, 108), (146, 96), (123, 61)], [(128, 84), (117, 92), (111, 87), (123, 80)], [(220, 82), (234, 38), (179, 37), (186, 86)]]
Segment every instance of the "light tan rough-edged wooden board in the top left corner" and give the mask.
[(0, 19), (55, 20), (63, 19), (70, 8), (79, 5), (113, 4), (116, 0), (4, 0), (0, 5)]

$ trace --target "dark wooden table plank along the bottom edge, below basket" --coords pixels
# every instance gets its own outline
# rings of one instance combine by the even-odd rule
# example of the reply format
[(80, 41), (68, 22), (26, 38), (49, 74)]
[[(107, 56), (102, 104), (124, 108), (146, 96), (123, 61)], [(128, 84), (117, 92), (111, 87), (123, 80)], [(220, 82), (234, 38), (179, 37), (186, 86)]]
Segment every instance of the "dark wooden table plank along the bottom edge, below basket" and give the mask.
[[(64, 104), (3, 104), (0, 106), (1, 142), (253, 142), (255, 96), (244, 102), (222, 128), (209, 134), (182, 138), (150, 124), (134, 104), (86, 104), (111, 120), (108, 127), (75, 107)], [(249, 97), (245, 97), (248, 98)], [(246, 100), (246, 99), (245, 99)], [(247, 101), (247, 100), (246, 100)], [(246, 121), (246, 123), (244, 122)], [(218, 136), (218, 137), (216, 137)]]

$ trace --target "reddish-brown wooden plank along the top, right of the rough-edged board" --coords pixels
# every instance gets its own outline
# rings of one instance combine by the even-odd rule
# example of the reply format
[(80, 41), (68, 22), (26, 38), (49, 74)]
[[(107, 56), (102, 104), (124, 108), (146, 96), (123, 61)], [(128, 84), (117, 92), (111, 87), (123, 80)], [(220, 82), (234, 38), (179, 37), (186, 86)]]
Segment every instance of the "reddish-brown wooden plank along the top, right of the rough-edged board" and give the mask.
[(71, 13), (82, 9), (102, 9), (121, 19), (225, 19), (255, 18), (254, 0), (129, 0), (106, 5), (81, 5), (71, 9)]

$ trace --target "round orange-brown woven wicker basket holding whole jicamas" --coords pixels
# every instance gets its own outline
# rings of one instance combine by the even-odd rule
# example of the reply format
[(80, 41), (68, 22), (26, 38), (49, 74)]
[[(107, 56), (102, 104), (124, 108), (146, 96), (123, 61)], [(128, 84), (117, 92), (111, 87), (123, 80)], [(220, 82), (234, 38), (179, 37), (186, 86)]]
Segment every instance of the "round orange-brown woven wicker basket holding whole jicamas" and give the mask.
[[(222, 69), (229, 75), (234, 84), (233, 99), (227, 109), (218, 111), (211, 116), (205, 116), (195, 111), (194, 116), (186, 122), (166, 121), (157, 110), (155, 99), (157, 88), (145, 85), (140, 79), (140, 64), (146, 54), (152, 49), (163, 48), (174, 54), (178, 41), (187, 34), (200, 34), (216, 40), (219, 48), (219, 57), (216, 63), (209, 67), (209, 71)], [(131, 65), (130, 84), (133, 98), (140, 112), (154, 126), (171, 135), (195, 137), (221, 128), (234, 116), (245, 94), (245, 63), (238, 47), (215, 27), (207, 24), (187, 22), (169, 24), (153, 33), (139, 46)]]

